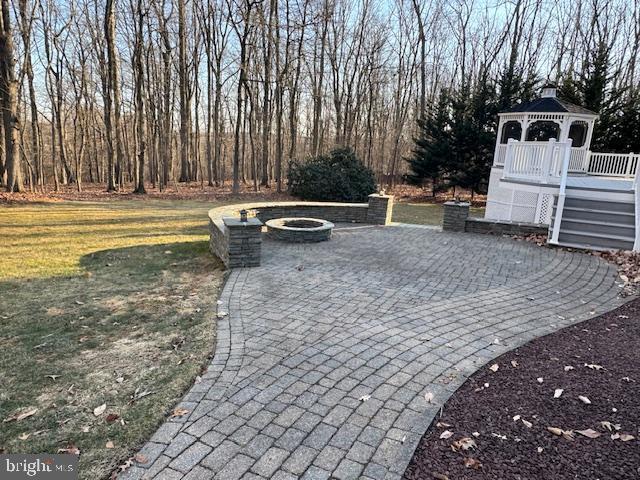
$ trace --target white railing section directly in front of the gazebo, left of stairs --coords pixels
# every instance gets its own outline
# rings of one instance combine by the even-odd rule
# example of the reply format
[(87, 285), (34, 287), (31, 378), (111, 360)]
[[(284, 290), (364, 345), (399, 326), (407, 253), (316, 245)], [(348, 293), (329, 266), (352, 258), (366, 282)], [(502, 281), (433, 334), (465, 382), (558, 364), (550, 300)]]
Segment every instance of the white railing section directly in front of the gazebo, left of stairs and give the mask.
[(510, 140), (505, 151), (503, 178), (558, 184), (568, 149), (568, 142)]

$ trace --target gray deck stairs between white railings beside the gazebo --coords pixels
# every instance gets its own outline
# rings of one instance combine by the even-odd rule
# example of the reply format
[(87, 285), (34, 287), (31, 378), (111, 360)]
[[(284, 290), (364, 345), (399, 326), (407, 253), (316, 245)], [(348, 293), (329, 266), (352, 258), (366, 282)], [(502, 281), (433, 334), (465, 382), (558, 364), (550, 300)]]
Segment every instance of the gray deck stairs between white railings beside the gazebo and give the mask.
[[(551, 225), (555, 221), (556, 205), (557, 197)], [(590, 250), (631, 250), (635, 232), (633, 202), (567, 195), (558, 245)]]

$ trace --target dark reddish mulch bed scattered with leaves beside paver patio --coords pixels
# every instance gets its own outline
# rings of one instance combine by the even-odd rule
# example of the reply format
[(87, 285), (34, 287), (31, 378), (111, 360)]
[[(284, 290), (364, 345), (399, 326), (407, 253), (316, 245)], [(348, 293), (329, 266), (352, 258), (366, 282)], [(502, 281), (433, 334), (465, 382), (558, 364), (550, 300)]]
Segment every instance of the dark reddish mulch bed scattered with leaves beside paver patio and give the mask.
[(639, 428), (640, 299), (476, 372), (433, 421), (404, 478), (638, 479)]

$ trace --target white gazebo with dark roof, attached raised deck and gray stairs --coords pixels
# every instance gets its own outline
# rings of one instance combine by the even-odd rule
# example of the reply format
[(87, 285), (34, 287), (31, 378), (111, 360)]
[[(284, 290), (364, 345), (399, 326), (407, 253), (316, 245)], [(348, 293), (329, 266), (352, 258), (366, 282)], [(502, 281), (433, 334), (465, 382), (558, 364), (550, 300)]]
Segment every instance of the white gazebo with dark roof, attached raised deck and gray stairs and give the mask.
[[(543, 87), (540, 98), (501, 112), (485, 218), (550, 225), (550, 243), (640, 246), (635, 241), (640, 222), (634, 218), (640, 210), (635, 208), (640, 155), (592, 152), (597, 118), (595, 112), (558, 98), (552, 84)], [(563, 223), (565, 200), (570, 206)], [(588, 210), (596, 213), (580, 217)], [(589, 224), (586, 217), (595, 220)], [(607, 228), (607, 222), (621, 228)], [(596, 232), (590, 233), (592, 229)], [(614, 230), (615, 235), (609, 233)]]

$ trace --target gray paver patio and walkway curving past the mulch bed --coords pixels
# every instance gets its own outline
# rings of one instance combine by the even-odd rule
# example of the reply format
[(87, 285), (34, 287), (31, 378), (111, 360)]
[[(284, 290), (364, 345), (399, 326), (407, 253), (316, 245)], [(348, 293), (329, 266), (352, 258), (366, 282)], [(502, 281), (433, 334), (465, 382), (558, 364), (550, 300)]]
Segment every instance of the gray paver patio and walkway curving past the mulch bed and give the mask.
[(400, 478), (470, 374), (620, 305), (616, 278), (596, 257), (421, 227), (266, 241), (228, 278), (190, 414), (121, 478)]

